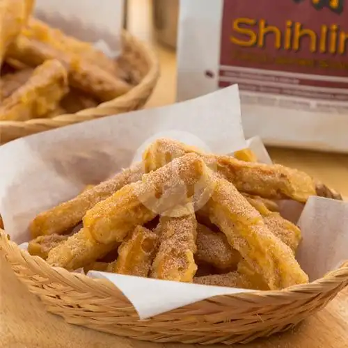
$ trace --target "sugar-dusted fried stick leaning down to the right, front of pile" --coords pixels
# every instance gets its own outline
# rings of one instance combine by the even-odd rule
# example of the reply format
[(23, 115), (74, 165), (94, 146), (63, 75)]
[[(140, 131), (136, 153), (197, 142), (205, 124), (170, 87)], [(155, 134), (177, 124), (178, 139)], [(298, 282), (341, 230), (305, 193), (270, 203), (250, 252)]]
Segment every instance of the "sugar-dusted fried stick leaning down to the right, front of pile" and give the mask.
[(292, 250), (265, 226), (260, 213), (227, 180), (212, 173), (214, 191), (206, 209), (229, 244), (271, 290), (308, 283)]

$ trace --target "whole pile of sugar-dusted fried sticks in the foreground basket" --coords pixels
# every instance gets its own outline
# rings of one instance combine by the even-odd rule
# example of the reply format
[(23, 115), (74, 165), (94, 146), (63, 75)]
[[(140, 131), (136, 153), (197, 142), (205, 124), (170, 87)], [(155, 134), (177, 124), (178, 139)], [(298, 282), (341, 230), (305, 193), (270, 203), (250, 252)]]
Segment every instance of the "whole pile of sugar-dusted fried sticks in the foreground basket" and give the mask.
[(246, 161), (206, 155), (159, 139), (141, 163), (39, 214), (29, 253), (69, 271), (253, 290), (308, 283), (295, 258), (301, 230), (280, 215), (276, 199), (306, 202), (317, 182), (246, 154), (239, 152)]

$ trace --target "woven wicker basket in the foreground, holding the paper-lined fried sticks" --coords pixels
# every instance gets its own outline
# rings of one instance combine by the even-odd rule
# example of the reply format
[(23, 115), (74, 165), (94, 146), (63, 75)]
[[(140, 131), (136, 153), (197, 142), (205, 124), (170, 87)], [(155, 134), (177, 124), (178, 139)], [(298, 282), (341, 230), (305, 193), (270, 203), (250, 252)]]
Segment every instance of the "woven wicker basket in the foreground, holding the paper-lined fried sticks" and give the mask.
[(348, 262), (308, 285), (278, 292), (255, 292), (193, 303), (152, 319), (139, 320), (133, 306), (109, 280), (54, 269), (10, 242), (0, 230), (0, 250), (49, 312), (67, 322), (153, 342), (250, 342), (285, 331), (326, 306), (348, 285)]

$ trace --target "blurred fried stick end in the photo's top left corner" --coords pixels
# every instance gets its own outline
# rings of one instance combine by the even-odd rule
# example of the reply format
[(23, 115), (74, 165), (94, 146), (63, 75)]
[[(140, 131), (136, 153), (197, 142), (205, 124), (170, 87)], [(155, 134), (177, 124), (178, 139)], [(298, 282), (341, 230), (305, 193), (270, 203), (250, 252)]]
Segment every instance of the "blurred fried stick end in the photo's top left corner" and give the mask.
[(30, 15), (32, 0), (1, 0), (0, 2), (0, 65), (8, 47), (22, 31)]

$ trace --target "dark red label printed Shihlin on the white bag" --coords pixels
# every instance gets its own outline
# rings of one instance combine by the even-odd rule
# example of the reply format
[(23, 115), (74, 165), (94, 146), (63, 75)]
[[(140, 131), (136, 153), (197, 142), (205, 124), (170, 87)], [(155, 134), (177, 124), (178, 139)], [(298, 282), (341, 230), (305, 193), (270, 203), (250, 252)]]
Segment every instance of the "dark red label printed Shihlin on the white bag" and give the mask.
[(225, 0), (219, 86), (347, 101), (345, 0)]

